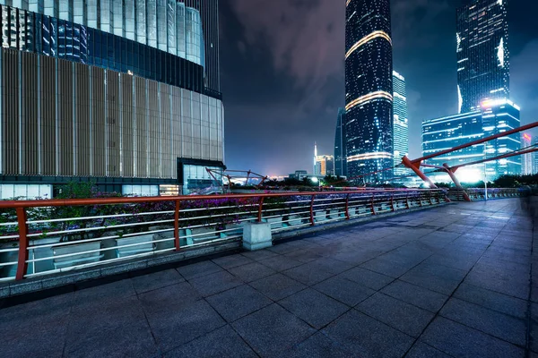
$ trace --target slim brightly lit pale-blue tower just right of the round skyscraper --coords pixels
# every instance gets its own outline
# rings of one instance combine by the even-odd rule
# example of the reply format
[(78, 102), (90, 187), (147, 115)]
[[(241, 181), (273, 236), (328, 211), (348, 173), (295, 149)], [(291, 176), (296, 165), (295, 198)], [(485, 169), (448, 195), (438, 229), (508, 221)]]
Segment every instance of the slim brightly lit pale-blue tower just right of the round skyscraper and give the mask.
[(394, 141), (395, 141), (395, 176), (402, 176), (407, 169), (402, 164), (402, 158), (409, 153), (409, 118), (407, 112), (407, 97), (405, 93), (405, 78), (393, 71), (394, 89)]

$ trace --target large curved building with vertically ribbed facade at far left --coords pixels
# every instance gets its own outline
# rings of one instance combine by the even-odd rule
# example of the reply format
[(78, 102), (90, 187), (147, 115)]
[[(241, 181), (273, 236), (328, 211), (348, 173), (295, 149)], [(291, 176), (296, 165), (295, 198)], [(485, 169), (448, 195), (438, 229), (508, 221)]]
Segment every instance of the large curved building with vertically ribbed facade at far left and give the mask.
[(214, 184), (217, 0), (0, 4), (2, 198), (71, 181), (127, 194)]

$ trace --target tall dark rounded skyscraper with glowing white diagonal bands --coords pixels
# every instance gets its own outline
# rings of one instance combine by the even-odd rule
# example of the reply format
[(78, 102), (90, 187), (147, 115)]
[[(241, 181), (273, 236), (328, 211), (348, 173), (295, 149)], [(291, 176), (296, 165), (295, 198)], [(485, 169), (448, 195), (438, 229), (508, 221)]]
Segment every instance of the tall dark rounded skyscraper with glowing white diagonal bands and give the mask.
[(389, 0), (347, 0), (345, 147), (348, 177), (383, 181), (393, 166), (392, 39)]

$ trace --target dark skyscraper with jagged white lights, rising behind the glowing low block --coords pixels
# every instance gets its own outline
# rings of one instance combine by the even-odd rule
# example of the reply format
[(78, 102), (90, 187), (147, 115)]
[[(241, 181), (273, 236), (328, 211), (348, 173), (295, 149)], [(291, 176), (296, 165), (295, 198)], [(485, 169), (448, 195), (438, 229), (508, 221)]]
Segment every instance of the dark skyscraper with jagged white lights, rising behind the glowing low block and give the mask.
[(508, 0), (470, 0), (457, 10), (459, 113), (480, 109), (485, 99), (508, 99)]

